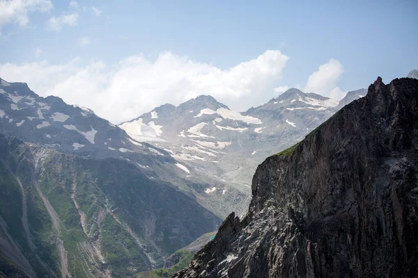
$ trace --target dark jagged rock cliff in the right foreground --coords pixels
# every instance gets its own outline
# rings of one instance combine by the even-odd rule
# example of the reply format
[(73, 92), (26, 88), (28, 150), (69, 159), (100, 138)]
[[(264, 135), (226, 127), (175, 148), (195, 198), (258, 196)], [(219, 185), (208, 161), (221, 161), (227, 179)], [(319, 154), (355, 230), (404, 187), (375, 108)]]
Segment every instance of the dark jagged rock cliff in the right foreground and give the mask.
[(173, 277), (415, 277), (418, 81), (379, 78), (256, 170), (249, 215)]

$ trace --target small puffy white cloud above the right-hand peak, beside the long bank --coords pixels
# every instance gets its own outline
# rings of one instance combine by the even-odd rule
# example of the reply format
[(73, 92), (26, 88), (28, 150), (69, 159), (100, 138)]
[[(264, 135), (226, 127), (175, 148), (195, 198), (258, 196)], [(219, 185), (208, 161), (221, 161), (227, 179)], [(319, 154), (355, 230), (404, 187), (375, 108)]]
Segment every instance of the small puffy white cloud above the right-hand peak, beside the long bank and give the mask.
[(343, 65), (332, 58), (328, 63), (320, 65), (318, 70), (309, 76), (304, 92), (316, 92), (332, 99), (342, 99), (346, 92), (343, 92), (336, 84), (343, 72)]

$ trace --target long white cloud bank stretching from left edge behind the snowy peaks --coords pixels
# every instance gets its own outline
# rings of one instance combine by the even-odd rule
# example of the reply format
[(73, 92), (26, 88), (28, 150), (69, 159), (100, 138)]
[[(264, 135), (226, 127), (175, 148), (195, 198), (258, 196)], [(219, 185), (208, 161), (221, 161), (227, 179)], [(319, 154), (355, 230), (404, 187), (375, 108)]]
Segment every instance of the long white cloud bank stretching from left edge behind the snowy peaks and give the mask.
[(232, 109), (244, 111), (272, 97), (288, 56), (279, 50), (226, 70), (167, 51), (156, 60), (130, 56), (117, 65), (75, 59), (62, 65), (47, 62), (0, 65), (0, 76), (22, 81), (38, 95), (56, 95), (68, 104), (92, 108), (118, 123), (155, 106), (180, 104), (198, 95), (212, 95)]

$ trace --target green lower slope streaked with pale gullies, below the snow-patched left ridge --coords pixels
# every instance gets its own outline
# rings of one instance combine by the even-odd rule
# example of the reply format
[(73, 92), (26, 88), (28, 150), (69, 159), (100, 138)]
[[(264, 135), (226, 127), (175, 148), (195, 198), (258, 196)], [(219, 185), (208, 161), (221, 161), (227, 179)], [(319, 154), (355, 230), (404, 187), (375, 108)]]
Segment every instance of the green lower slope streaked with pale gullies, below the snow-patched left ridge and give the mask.
[(220, 222), (127, 161), (0, 135), (0, 276), (130, 277)]

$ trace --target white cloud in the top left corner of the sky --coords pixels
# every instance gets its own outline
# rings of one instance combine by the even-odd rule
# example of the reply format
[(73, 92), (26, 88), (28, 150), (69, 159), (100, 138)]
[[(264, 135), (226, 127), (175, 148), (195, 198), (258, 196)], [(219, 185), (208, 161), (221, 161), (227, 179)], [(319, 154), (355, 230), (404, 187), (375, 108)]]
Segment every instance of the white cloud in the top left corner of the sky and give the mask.
[(6, 24), (27, 26), (30, 22), (28, 14), (45, 13), (52, 9), (50, 0), (11, 0), (0, 1), (0, 31)]

